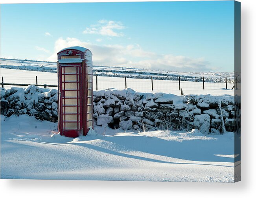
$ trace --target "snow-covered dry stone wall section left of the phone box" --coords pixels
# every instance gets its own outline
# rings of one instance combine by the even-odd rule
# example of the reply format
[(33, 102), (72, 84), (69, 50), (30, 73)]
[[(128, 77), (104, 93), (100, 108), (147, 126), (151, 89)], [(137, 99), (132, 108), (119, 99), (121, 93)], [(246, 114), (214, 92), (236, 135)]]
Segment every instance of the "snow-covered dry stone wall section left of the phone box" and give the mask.
[(28, 114), (40, 120), (56, 122), (58, 119), (56, 89), (42, 89), (35, 85), (11, 89), (1, 88), (1, 115)]

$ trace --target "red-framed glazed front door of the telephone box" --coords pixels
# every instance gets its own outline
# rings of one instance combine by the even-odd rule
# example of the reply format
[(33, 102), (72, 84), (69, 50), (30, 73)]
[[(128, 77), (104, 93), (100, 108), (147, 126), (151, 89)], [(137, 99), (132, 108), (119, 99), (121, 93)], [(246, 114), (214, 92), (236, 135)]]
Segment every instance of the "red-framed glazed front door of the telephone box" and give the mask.
[(68, 137), (83, 134), (81, 74), (81, 64), (59, 64), (59, 127)]

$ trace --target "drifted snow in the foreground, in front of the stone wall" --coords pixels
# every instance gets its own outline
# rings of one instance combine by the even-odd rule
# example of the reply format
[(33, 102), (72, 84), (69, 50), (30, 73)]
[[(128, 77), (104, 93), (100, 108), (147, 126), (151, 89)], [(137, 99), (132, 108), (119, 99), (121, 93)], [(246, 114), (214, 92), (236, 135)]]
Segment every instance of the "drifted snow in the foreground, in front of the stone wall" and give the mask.
[(96, 127), (67, 138), (52, 133), (56, 127), (28, 115), (1, 116), (1, 178), (234, 182), (234, 165), (240, 168), (234, 133)]

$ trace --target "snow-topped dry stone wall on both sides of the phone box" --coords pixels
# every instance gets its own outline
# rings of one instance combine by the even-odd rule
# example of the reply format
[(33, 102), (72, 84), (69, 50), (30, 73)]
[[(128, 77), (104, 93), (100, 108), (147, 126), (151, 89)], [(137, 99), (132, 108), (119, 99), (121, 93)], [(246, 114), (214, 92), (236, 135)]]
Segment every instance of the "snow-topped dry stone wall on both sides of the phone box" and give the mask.
[[(132, 89), (94, 91), (95, 124), (123, 130), (199, 129), (201, 133), (240, 131), (240, 109), (233, 96), (137, 93)], [(1, 114), (29, 114), (57, 121), (57, 90), (29, 85), (1, 88)], [(219, 105), (220, 104), (220, 105)]]

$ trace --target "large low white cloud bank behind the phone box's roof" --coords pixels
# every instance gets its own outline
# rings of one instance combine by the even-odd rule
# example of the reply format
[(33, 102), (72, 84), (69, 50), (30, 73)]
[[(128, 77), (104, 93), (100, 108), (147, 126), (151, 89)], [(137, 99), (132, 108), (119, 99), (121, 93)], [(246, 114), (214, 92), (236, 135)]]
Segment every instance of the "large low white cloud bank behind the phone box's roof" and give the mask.
[(140, 45), (98, 45), (82, 42), (77, 38), (59, 38), (55, 42), (54, 54), (48, 58), (57, 60), (57, 52), (66, 47), (82, 46), (92, 51), (94, 65), (140, 67), (169, 71), (209, 71), (214, 70), (204, 58), (157, 54), (143, 50)]

